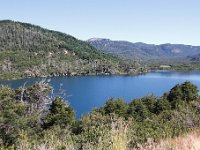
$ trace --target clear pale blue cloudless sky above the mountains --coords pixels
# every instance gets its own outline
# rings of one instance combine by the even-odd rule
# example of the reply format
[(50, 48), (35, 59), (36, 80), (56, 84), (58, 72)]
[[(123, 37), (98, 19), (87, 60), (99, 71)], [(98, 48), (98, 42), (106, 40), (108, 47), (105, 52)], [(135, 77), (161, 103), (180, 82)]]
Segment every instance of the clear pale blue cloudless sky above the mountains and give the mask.
[(0, 20), (78, 39), (200, 45), (200, 0), (0, 0)]

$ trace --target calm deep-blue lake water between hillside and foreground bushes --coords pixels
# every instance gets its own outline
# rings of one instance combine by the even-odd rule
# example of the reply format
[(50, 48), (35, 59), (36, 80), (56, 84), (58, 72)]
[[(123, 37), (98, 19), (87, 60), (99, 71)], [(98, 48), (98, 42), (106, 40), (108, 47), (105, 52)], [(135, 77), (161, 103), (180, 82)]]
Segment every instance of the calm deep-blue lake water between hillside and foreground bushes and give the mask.
[[(24, 83), (31, 85), (42, 78), (1, 81), (0, 84), (17, 88)], [(47, 78), (54, 88), (54, 96), (60, 94), (75, 109), (77, 117), (102, 106), (109, 98), (134, 98), (154, 94), (161, 96), (177, 83), (191, 81), (200, 89), (200, 72), (155, 71), (138, 76), (75, 76)], [(64, 95), (60, 89), (66, 93)]]

